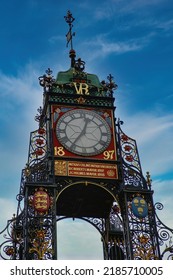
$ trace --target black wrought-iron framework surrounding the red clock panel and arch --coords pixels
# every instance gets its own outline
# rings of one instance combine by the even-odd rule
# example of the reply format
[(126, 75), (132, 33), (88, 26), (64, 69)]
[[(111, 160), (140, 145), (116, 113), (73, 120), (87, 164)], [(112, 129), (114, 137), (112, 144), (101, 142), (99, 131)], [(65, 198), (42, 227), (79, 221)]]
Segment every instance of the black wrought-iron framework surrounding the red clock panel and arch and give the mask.
[[(75, 62), (75, 61), (74, 61)], [(80, 71), (83, 71), (80, 69)], [(81, 72), (76, 74), (81, 78)], [(76, 76), (75, 76), (76, 78)], [(63, 87), (56, 83), (52, 71), (48, 69), (46, 75), (39, 77), (44, 88), (44, 106), (39, 108), (36, 121), (38, 130), (30, 135), (28, 162), (22, 170), (21, 185), (17, 195), (17, 215), (9, 220), (0, 234), (4, 234), (5, 241), (0, 245), (0, 256), (3, 259), (57, 259), (56, 223), (57, 195), (78, 178), (56, 178), (54, 175), (54, 153), (52, 145), (51, 105), (66, 105), (71, 102), (75, 106), (85, 108), (98, 106), (111, 108), (114, 111), (113, 89), (117, 85), (112, 76), (108, 76), (108, 83), (102, 82), (102, 94), (95, 95), (96, 89), (91, 88), (91, 96), (76, 96), (69, 85)], [(67, 89), (66, 94), (64, 94)], [(78, 97), (78, 99), (77, 99)], [(173, 230), (164, 225), (155, 212), (153, 192), (149, 174), (147, 179), (142, 174), (140, 158), (136, 141), (128, 137), (121, 129), (122, 121), (115, 122), (115, 139), (117, 146), (118, 180), (93, 179), (88, 181), (104, 186), (113, 197), (110, 214), (107, 217), (73, 217), (81, 218), (98, 229), (103, 240), (104, 259), (163, 259), (173, 248), (170, 243), (162, 253), (160, 246), (166, 241), (171, 242)], [(51, 200), (51, 204), (44, 212), (39, 212), (31, 200), (35, 192), (43, 189)], [(99, 188), (98, 188), (99, 189)], [(132, 200), (142, 198), (148, 214), (138, 217), (133, 212)], [(163, 208), (160, 203), (156, 209)], [(70, 217), (70, 215), (69, 215)]]

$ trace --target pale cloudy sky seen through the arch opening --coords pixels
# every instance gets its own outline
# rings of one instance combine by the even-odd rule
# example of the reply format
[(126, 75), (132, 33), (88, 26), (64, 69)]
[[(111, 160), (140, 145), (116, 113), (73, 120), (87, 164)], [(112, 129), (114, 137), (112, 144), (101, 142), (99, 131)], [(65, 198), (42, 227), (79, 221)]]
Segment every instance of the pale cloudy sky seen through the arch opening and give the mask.
[(66, 219), (57, 229), (58, 259), (103, 259), (101, 235), (88, 222)]

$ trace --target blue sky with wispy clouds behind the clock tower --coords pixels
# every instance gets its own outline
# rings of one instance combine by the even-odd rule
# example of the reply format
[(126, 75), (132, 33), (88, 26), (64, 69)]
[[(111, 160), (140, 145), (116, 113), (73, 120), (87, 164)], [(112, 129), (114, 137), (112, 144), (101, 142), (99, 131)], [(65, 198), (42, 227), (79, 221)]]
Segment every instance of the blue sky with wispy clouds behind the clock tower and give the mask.
[[(42, 105), (38, 77), (48, 67), (56, 76), (70, 66), (64, 21), (69, 9), (75, 17), (77, 57), (86, 62), (86, 72), (97, 74), (100, 80), (109, 73), (114, 76), (118, 84), (116, 117), (124, 121), (124, 132), (137, 140), (143, 173), (149, 170), (152, 176), (154, 201), (165, 206), (159, 215), (173, 227), (171, 0), (1, 0), (0, 225), (16, 211), (29, 134), (37, 129), (34, 116)], [(66, 222), (60, 228), (68, 226)], [(75, 238), (81, 227), (81, 235), (83, 231), (87, 236), (93, 234), (90, 239), (100, 242), (95, 229), (85, 226), (76, 221), (69, 231)], [(67, 244), (67, 240), (61, 243)], [(100, 247), (93, 250), (99, 252), (93, 258), (100, 258)], [(61, 258), (67, 256), (67, 252), (60, 253)]]

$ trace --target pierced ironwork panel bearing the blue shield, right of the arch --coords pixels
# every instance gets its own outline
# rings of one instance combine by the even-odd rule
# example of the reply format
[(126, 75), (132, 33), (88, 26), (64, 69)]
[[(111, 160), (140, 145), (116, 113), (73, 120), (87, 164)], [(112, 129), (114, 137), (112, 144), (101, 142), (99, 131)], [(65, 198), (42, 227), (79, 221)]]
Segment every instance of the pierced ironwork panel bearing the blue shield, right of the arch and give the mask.
[(128, 258), (160, 259), (152, 193), (125, 193), (125, 208), (124, 228)]

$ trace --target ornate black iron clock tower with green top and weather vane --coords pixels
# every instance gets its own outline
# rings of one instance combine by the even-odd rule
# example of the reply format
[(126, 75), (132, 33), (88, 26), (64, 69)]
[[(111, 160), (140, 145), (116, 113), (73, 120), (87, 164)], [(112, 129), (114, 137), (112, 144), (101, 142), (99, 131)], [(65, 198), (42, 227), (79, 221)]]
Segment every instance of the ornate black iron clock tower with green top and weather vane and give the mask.
[(150, 176), (143, 177), (136, 141), (115, 117), (117, 85), (112, 75), (100, 82), (85, 71), (72, 46), (70, 12), (65, 20), (71, 67), (39, 77), (43, 108), (22, 171), (15, 244), (6, 253), (57, 259), (56, 224), (71, 217), (98, 229), (106, 260), (161, 259)]

